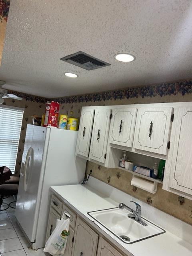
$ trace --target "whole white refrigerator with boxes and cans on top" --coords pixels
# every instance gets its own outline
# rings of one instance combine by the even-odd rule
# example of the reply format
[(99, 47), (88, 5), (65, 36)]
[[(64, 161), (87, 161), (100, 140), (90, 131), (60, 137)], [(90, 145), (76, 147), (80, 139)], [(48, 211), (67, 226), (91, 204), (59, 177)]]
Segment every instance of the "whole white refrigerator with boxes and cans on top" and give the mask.
[(45, 245), (50, 186), (84, 179), (86, 160), (75, 156), (77, 136), (77, 131), (27, 125), (15, 215), (33, 249)]

